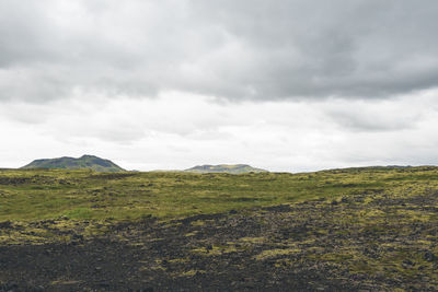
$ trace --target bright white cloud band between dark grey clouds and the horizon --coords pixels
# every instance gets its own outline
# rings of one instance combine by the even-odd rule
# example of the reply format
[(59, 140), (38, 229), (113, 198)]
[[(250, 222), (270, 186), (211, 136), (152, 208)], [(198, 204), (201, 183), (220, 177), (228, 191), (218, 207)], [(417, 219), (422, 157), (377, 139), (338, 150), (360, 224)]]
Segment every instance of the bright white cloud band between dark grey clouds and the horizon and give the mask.
[(141, 171), (206, 163), (289, 172), (435, 164), (436, 96), (438, 90), (379, 103), (217, 103), (166, 92), (148, 100), (77, 96), (45, 106), (3, 103), (0, 135), (8, 139), (0, 144), (0, 159), (2, 166), (18, 167), (33, 159), (89, 153)]

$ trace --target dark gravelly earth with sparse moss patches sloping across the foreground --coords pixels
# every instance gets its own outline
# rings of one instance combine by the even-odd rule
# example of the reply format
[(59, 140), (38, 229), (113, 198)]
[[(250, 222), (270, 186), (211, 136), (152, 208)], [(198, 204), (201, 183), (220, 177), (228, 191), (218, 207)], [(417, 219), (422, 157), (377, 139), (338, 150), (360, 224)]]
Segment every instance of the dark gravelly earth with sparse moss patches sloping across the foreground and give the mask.
[[(437, 196), (416, 198), (417, 210), (425, 199), (436, 202)], [(384, 199), (369, 206), (394, 208)], [(438, 268), (437, 255), (410, 244), (436, 235), (437, 222), (406, 227), (394, 221), (383, 231), (339, 223), (359, 207), (310, 201), (165, 223), (149, 218), (64, 244), (0, 246), (0, 291), (437, 291), (407, 259), (403, 265), (415, 277), (353, 272), (348, 258), (324, 259), (349, 250), (374, 260), (395, 244)]]

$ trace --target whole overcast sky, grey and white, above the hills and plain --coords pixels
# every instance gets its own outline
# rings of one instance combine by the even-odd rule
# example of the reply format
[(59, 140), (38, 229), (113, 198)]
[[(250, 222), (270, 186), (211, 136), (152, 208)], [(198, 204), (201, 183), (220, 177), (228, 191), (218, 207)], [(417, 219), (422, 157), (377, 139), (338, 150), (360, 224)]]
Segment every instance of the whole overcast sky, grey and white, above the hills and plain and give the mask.
[(438, 164), (436, 0), (0, 0), (0, 167)]

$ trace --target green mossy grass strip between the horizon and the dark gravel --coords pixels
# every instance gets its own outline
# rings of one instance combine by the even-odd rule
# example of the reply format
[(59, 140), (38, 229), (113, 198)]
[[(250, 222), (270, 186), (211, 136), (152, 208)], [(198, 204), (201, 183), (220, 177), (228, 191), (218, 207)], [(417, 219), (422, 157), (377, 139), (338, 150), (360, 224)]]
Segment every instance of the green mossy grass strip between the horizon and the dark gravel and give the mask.
[[(0, 221), (163, 219), (218, 213), (376, 189), (418, 190), (435, 168), (357, 168), (303, 174), (0, 171)], [(420, 184), (423, 183), (423, 185)], [(427, 185), (430, 187), (430, 185)], [(411, 191), (412, 191), (411, 190)]]

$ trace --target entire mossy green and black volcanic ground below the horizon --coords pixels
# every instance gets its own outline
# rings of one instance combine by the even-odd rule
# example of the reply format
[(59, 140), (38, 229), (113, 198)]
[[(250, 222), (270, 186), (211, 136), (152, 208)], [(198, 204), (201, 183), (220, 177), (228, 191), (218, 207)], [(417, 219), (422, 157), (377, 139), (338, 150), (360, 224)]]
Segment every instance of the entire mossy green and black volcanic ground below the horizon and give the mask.
[(1, 171), (0, 245), (4, 287), (435, 291), (438, 168)]

